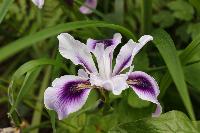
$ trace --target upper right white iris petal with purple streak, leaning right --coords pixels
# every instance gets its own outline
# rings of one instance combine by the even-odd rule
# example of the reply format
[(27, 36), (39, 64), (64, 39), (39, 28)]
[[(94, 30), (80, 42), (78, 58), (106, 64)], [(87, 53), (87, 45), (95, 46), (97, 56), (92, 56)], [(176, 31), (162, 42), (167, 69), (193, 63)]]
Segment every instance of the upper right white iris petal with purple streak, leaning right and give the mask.
[(119, 74), (124, 69), (131, 66), (134, 56), (140, 51), (140, 49), (150, 40), (153, 40), (153, 37), (150, 35), (142, 36), (138, 41), (139, 43), (129, 40), (125, 44), (116, 59), (116, 64), (113, 70), (113, 75)]

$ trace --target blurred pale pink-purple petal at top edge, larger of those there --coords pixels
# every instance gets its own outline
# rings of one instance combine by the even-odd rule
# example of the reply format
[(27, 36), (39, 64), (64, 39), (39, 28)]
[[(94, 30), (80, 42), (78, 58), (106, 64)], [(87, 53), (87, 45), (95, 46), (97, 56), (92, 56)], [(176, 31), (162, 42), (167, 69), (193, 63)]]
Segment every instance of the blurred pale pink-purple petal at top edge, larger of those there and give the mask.
[(85, 3), (80, 7), (80, 12), (83, 14), (90, 14), (92, 13), (91, 9), (96, 9), (96, 7), (97, 0), (85, 0)]

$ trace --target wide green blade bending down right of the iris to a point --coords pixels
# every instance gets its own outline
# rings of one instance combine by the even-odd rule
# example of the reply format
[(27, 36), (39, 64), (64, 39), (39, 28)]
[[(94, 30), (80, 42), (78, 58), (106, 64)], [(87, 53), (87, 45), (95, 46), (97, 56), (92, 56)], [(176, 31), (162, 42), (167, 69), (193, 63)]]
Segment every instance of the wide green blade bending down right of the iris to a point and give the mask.
[(195, 120), (192, 103), (184, 79), (183, 69), (173, 40), (164, 30), (155, 30), (152, 35), (154, 37), (153, 43), (162, 55), (191, 119)]

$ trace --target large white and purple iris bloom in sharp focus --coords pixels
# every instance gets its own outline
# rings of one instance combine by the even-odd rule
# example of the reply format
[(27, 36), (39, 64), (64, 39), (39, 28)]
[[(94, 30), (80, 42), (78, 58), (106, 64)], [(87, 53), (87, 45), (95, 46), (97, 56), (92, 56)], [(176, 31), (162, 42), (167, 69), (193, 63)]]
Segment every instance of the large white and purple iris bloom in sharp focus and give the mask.
[[(44, 93), (46, 108), (55, 110), (61, 120), (81, 109), (91, 89), (102, 88), (119, 95), (131, 87), (139, 98), (157, 104), (152, 115), (159, 116), (162, 108), (157, 100), (159, 87), (156, 81), (144, 72), (132, 72), (131, 66), (134, 56), (153, 37), (144, 35), (138, 43), (129, 40), (121, 48), (112, 69), (113, 52), (121, 43), (121, 38), (121, 34), (116, 33), (113, 39), (88, 39), (85, 45), (68, 33), (58, 35), (60, 54), (75, 65), (82, 65), (84, 69), (78, 70), (78, 76), (65, 75), (53, 81), (52, 87), (48, 87)], [(91, 53), (96, 57), (98, 69)], [(122, 74), (121, 72), (127, 68), (129, 72)]]

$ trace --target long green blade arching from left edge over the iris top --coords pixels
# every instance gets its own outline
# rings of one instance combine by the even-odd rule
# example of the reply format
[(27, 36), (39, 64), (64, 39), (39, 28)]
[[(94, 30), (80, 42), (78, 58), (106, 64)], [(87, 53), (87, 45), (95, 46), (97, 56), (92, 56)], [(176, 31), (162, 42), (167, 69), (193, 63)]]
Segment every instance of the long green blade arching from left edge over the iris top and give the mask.
[(68, 32), (71, 30), (80, 29), (80, 28), (88, 28), (88, 27), (104, 27), (104, 28), (114, 29), (124, 34), (127, 38), (132, 38), (136, 40), (136, 37), (128, 29), (119, 25), (110, 24), (110, 23), (106, 23), (102, 21), (70, 22), (70, 23), (60, 24), (54, 27), (41, 30), (35, 34), (28, 35), (14, 42), (11, 42), (10, 44), (7, 44), (6, 46), (0, 48), (0, 53), (1, 53), (0, 62), (4, 61), (8, 57), (14, 55), (15, 53), (27, 47), (37, 44), (37, 42), (39, 41), (42, 41), (46, 38), (57, 35), (61, 32)]

